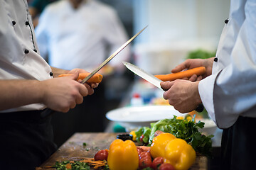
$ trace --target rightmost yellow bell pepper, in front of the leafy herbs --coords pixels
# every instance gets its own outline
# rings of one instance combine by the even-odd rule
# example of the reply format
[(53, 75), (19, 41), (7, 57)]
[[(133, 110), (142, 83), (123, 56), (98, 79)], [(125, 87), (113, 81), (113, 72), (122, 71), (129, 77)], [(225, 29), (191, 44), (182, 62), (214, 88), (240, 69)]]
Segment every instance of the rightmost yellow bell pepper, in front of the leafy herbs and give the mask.
[(171, 164), (176, 170), (189, 169), (196, 161), (196, 152), (186, 140), (176, 138), (165, 148), (164, 163)]

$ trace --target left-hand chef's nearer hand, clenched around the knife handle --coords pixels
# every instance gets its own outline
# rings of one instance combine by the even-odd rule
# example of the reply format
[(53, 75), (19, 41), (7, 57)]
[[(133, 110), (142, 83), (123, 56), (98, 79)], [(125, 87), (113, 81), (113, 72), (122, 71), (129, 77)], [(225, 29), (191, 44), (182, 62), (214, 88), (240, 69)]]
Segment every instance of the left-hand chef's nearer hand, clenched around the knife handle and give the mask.
[(78, 72), (69, 77), (58, 77), (41, 81), (40, 89), (44, 103), (54, 111), (68, 112), (82, 103), (83, 97), (93, 94), (93, 89), (88, 84), (80, 84)]

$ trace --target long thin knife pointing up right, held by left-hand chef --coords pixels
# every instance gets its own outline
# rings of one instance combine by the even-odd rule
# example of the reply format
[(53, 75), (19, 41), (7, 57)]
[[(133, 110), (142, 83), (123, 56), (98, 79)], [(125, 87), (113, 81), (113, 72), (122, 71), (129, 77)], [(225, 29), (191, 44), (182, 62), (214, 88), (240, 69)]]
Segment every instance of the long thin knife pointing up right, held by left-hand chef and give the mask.
[[(146, 26), (147, 27), (147, 26)], [(85, 77), (85, 79), (83, 79), (80, 83), (81, 84), (85, 84), (86, 81), (88, 79), (90, 79), (94, 74), (96, 74), (97, 72), (99, 72), (100, 69), (102, 69), (102, 67), (104, 67), (108, 62), (110, 62), (110, 60), (112, 60), (119, 52), (121, 52), (125, 47), (127, 47), (127, 45), (129, 45), (130, 42), (132, 42), (132, 40), (134, 40), (135, 38), (137, 38), (137, 36), (142, 33), (143, 30), (146, 29), (143, 28), (142, 30), (140, 30), (137, 34), (135, 34), (132, 38), (130, 38), (129, 40), (127, 40), (127, 42), (125, 42), (121, 47), (119, 47), (112, 55), (110, 55), (110, 57), (107, 58), (107, 60), (105, 60), (104, 62), (102, 62), (102, 64), (100, 64), (99, 67), (97, 67), (95, 70), (93, 70), (87, 77)], [(49, 115), (53, 114), (55, 111), (51, 110), (50, 108), (46, 108), (45, 111), (43, 111), (41, 113), (41, 117), (42, 118), (46, 118)]]

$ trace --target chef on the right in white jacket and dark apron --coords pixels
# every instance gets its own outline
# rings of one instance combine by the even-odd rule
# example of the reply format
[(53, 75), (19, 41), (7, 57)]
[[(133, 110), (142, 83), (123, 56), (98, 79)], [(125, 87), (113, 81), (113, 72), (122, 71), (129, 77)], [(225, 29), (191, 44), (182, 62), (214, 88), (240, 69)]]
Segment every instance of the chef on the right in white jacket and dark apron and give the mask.
[[(186, 60), (172, 72), (206, 67), (203, 77), (161, 83), (164, 98), (181, 113), (203, 102), (223, 129), (223, 169), (255, 169), (256, 1), (231, 1), (215, 58)], [(203, 78), (203, 79), (202, 79)], [(202, 80), (201, 80), (202, 79)], [(201, 80), (201, 81), (196, 81)]]

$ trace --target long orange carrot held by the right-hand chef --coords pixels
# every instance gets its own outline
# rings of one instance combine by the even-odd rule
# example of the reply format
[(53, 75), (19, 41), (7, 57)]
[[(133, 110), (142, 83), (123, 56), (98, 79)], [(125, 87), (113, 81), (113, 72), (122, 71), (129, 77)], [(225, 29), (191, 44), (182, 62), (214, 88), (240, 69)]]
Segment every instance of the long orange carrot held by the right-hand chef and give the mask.
[(191, 77), (193, 74), (200, 76), (206, 73), (206, 67), (196, 67), (193, 69), (188, 69), (183, 72), (171, 73), (171, 74), (159, 74), (155, 75), (156, 78), (161, 79), (161, 81), (174, 81), (176, 79), (183, 79), (185, 77)]

